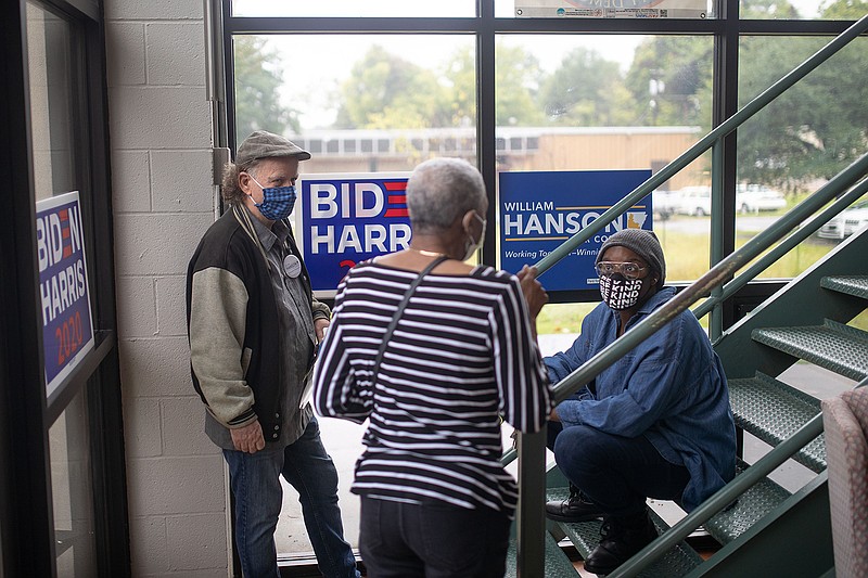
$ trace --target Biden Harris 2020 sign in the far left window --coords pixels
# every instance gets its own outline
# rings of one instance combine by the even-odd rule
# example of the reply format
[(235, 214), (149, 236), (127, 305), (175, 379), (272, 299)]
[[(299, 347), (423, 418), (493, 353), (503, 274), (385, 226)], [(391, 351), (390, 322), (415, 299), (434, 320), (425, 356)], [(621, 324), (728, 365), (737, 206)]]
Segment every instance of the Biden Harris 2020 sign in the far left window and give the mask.
[(78, 191), (36, 203), (46, 395), (93, 348)]

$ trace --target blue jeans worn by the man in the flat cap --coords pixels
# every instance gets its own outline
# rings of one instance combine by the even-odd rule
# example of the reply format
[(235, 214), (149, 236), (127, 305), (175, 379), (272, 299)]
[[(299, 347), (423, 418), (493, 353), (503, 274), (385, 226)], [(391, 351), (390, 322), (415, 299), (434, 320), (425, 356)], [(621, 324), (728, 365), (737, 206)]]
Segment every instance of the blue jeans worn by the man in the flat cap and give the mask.
[(316, 418), (285, 448), (224, 450), (224, 457), (235, 498), (235, 542), (244, 578), (280, 576), (275, 530), (283, 503), (281, 474), (298, 491), (319, 570), (328, 578), (358, 578), (337, 506), (337, 471), (322, 446)]

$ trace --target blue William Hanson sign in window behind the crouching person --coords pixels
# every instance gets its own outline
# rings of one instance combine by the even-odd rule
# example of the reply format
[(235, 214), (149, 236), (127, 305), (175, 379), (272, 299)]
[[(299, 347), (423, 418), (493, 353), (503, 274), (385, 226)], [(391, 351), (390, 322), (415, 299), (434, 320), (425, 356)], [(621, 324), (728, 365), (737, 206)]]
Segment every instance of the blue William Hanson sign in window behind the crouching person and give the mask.
[[(500, 267), (518, 272), (588, 227), (651, 177), (650, 170), (501, 172), (499, 180)], [(651, 195), (627, 209), (539, 279), (547, 291), (596, 288), (593, 262), (609, 235), (651, 229)]]

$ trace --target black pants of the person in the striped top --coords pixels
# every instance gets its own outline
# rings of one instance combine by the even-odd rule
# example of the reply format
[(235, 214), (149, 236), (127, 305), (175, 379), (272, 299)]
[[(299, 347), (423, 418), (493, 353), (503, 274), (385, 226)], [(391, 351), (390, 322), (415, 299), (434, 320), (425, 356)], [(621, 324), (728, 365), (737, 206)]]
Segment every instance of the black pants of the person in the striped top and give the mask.
[(509, 529), (489, 509), (362, 497), (359, 551), (369, 578), (500, 578)]

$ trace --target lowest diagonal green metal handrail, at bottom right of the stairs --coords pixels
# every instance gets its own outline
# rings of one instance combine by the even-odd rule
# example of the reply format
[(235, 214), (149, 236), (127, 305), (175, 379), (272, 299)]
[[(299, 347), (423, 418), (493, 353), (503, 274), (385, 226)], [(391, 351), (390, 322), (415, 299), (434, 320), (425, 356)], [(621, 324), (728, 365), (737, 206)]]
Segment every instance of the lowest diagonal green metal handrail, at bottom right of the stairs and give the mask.
[[(868, 377), (859, 382), (854, 389), (868, 385)], [(702, 502), (693, 512), (684, 517), (675, 526), (666, 530), (658, 540), (642, 549), (638, 554), (620, 566), (609, 575), (611, 578), (629, 578), (637, 576), (654, 561), (663, 556), (678, 542), (707, 522), (715, 513), (723, 510), (751, 486), (766, 477), (776, 467), (790, 459), (790, 457), (806, 446), (822, 433), (822, 414), (812, 418), (792, 436), (776, 446), (768, 453), (751, 465), (743, 474), (720, 488), (714, 496)]]

